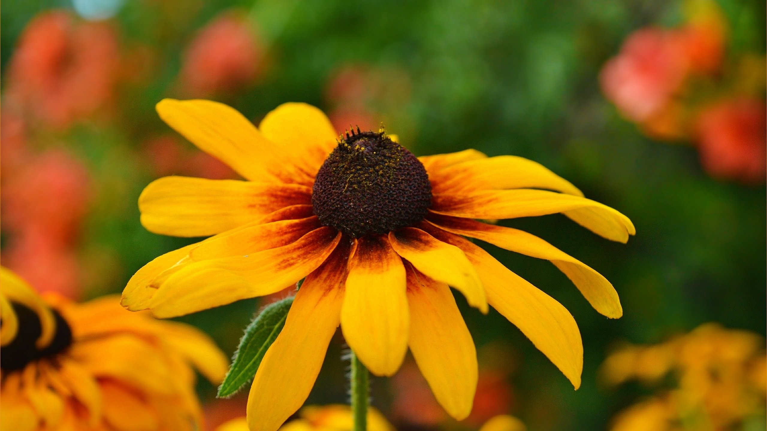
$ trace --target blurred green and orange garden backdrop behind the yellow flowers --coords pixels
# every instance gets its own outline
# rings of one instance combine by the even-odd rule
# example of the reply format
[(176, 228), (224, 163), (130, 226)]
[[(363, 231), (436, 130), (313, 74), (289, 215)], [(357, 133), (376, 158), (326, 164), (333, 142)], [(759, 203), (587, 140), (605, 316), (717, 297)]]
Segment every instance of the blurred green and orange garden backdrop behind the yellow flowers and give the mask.
[[(412, 358), (374, 380), (372, 403), (399, 429), (477, 429), (498, 413), (532, 430), (617, 429), (620, 412), (676, 384), (610, 378), (602, 364), (627, 343), (718, 322), (750, 331), (763, 377), (765, 14), (765, 2), (749, 0), (5, 2), (3, 265), (41, 291), (88, 299), (193, 242), (143, 229), (141, 190), (170, 174), (237, 176), (157, 117), (163, 97), (219, 100), (255, 123), (304, 101), (339, 131), (384, 123), (416, 155), (524, 156), (637, 226), (622, 245), (562, 216), (504, 222), (607, 277), (621, 295), (618, 320), (548, 262), (488, 248), (574, 314), (581, 389), (502, 316), (457, 295), (479, 353), (472, 416), (448, 419)], [(183, 321), (232, 354), (274, 299)], [(346, 401), (343, 350), (337, 334), (308, 403)], [(753, 381), (763, 400), (764, 379)], [(244, 396), (199, 391), (210, 426), (244, 414)], [(733, 403), (746, 411), (726, 426), (678, 429), (765, 429), (763, 401)]]

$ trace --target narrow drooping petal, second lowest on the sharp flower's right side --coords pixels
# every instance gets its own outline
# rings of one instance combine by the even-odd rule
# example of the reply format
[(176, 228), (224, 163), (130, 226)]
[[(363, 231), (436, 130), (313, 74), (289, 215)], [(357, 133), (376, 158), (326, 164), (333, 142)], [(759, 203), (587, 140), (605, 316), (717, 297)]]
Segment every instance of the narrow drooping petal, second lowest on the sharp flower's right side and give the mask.
[(535, 235), (518, 229), (449, 216), (432, 216), (430, 222), (448, 232), (481, 239), (512, 252), (547, 259), (570, 278), (594, 309), (611, 318), (623, 315), (621, 300), (607, 278)]

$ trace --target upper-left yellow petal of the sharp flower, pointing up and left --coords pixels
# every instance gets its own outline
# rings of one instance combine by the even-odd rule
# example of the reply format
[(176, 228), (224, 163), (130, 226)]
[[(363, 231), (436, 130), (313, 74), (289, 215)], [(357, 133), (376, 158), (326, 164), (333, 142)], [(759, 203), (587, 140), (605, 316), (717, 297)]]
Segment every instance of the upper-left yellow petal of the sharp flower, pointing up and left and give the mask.
[(285, 160), (237, 110), (211, 100), (164, 99), (157, 114), (186, 139), (251, 181), (298, 183), (302, 173)]

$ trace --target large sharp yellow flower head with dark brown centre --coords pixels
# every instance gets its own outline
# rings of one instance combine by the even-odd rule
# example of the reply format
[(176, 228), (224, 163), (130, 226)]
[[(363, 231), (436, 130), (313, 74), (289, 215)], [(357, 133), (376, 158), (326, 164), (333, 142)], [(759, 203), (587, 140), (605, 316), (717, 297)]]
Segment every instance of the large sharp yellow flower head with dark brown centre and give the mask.
[(620, 317), (613, 286), (543, 239), (476, 219), (561, 212), (607, 239), (634, 226), (538, 163), (476, 150), (416, 158), (383, 131), (339, 138), (307, 104), (256, 128), (209, 100), (163, 100), (160, 117), (246, 181), (166, 176), (139, 198), (151, 232), (209, 239), (162, 255), (123, 291), (123, 306), (175, 317), (280, 291), (305, 278), (262, 360), (251, 429), (274, 431), (304, 403), (336, 328), (379, 376), (408, 347), (457, 419), (472, 407), (476, 350), (448, 286), (527, 335), (575, 387), (583, 347), (571, 314), (463, 236), (550, 260), (600, 313)]

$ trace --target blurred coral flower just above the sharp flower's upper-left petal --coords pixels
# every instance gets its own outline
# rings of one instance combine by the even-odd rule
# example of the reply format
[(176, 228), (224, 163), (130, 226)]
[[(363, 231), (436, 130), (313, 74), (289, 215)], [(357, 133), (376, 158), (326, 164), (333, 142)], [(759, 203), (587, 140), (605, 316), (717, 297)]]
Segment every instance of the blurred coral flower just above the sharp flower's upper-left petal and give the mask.
[(264, 48), (255, 24), (236, 12), (224, 12), (189, 44), (181, 69), (183, 90), (202, 97), (237, 90), (253, 81)]

